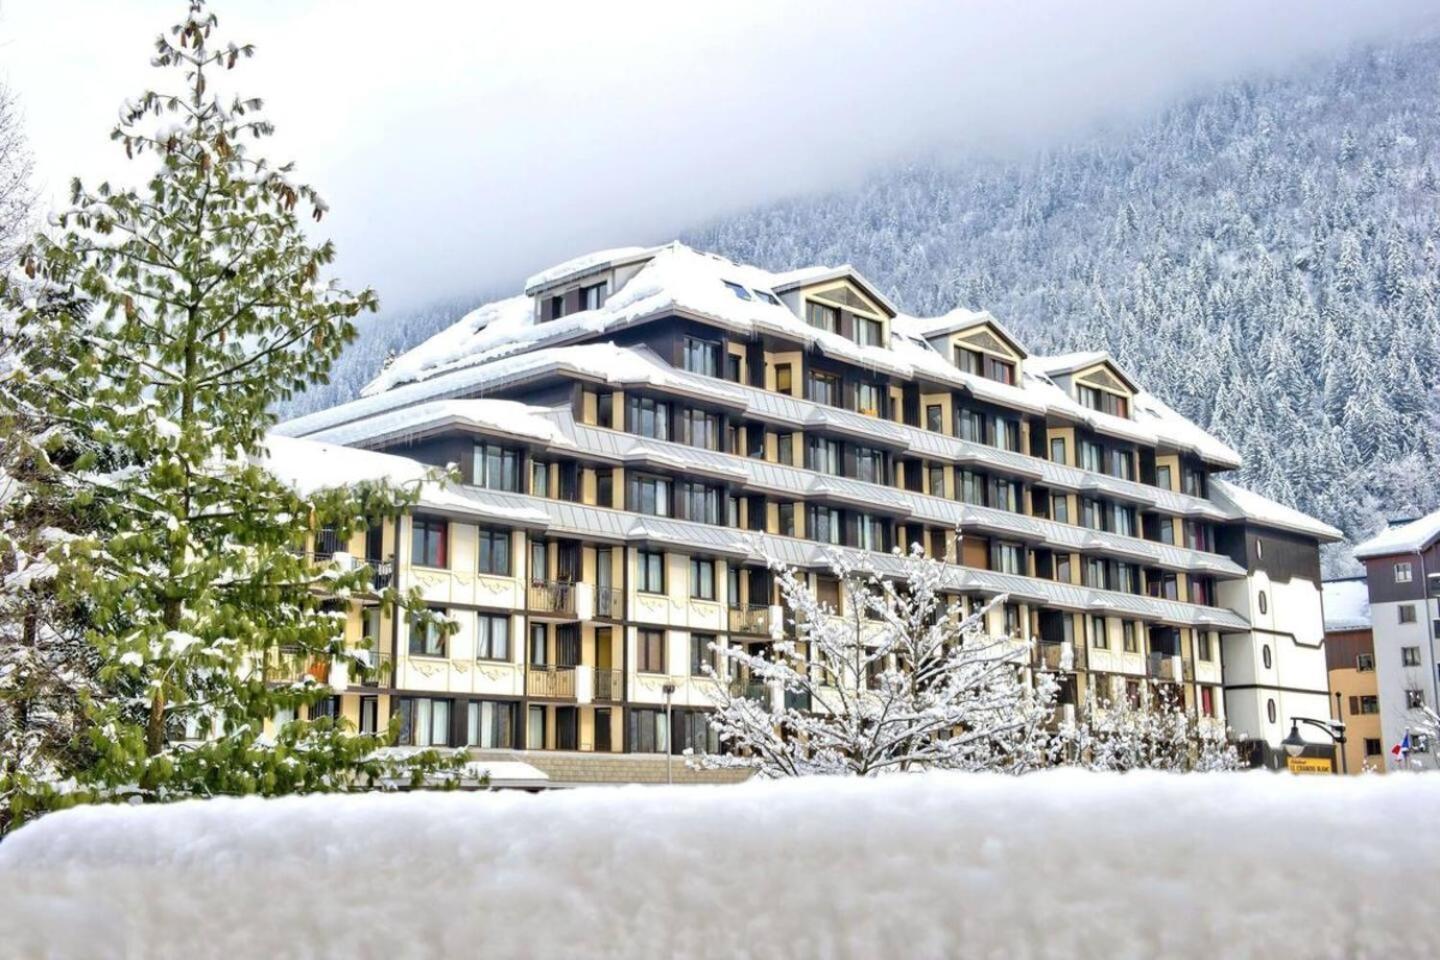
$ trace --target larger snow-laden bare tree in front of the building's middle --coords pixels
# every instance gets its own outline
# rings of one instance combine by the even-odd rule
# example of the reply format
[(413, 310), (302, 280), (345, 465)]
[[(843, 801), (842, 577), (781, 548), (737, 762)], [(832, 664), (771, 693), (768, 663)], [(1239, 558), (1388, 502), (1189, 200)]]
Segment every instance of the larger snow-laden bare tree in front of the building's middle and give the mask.
[(1025, 639), (985, 635), (985, 613), (1004, 597), (965, 616), (945, 593), (946, 566), (919, 548), (893, 577), (845, 554), (832, 566), (840, 610), (776, 566), (785, 635), (756, 651), (717, 648), (726, 676), (711, 724), (724, 753), (694, 763), (768, 777), (1045, 763), (1056, 687), (1031, 675)]

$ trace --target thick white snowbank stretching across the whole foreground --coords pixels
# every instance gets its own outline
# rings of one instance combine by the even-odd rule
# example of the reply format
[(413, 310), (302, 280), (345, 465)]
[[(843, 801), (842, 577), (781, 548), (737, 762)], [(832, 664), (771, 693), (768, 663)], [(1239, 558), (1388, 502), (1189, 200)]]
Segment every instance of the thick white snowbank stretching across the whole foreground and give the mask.
[(1080, 771), (81, 809), (0, 843), (0, 953), (1433, 956), (1436, 809)]

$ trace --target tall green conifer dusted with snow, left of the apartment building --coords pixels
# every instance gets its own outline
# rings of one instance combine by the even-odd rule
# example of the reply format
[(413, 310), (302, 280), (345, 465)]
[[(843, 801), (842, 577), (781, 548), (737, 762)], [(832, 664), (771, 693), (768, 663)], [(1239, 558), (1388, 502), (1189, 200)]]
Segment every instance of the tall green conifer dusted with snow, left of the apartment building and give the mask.
[(76, 181), (53, 236), (22, 258), (39, 296), (9, 292), (20, 363), (7, 387), (42, 420), (23, 443), (72, 504), (46, 589), (84, 607), (105, 694), (85, 704), (91, 756), (73, 789), (20, 806), (338, 790), (393, 773), (382, 741), (343, 721), (265, 733), (276, 711), (331, 692), (308, 676), (266, 684), (281, 649), (364, 671), (327, 597), (370, 590), (372, 574), (317, 560), (307, 538), (380, 522), (412, 492), (301, 492), (262, 466), (271, 406), (325, 380), (376, 298), (324, 278), (334, 250), (300, 220), (324, 203), (251, 153), (271, 134), (261, 102), (217, 92), (252, 52), (222, 43), (193, 0), (153, 59), (180, 91), (128, 102), (112, 134), (150, 161), (144, 189)]

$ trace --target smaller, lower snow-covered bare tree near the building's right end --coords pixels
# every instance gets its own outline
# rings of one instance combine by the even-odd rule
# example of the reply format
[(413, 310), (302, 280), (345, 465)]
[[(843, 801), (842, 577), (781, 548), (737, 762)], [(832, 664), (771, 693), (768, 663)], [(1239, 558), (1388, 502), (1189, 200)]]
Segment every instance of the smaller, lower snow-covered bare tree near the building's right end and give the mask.
[(1089, 770), (1240, 770), (1243, 763), (1224, 730), (1201, 725), (1171, 692), (1145, 692), (1135, 701), (1086, 704), (1050, 743), (1054, 763)]

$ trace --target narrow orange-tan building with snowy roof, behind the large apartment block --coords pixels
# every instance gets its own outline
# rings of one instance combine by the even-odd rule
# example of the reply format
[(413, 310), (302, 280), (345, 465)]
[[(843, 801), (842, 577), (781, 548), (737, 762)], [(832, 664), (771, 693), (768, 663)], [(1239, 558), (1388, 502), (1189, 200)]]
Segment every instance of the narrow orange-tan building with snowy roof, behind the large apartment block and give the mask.
[(1380, 682), (1365, 577), (1325, 581), (1325, 659), (1335, 708), (1345, 723), (1345, 773), (1385, 773)]

